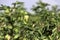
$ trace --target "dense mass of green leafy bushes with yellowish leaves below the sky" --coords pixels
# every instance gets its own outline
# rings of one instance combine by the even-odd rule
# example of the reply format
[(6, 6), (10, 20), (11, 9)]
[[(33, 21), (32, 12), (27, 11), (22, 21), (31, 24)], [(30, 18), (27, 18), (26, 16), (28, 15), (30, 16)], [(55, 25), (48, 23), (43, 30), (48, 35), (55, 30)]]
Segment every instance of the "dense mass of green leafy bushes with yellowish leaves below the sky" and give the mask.
[(56, 7), (48, 10), (48, 4), (39, 2), (32, 8), (35, 14), (26, 11), (23, 2), (12, 7), (0, 7), (1, 40), (60, 40), (60, 14)]

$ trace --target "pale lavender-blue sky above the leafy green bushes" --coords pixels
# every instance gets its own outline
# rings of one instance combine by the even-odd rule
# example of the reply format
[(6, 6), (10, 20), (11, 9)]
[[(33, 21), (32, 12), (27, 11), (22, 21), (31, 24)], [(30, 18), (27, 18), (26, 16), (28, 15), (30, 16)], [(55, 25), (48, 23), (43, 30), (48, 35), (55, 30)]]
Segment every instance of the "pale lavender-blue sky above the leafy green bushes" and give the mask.
[[(16, 2), (17, 0), (0, 0), (0, 4), (11, 6), (11, 3)], [(18, 0), (24, 2), (25, 8), (27, 11), (31, 12), (32, 5), (35, 5), (38, 0)], [(42, 0), (43, 2), (49, 3), (51, 5), (59, 5), (60, 0)]]

